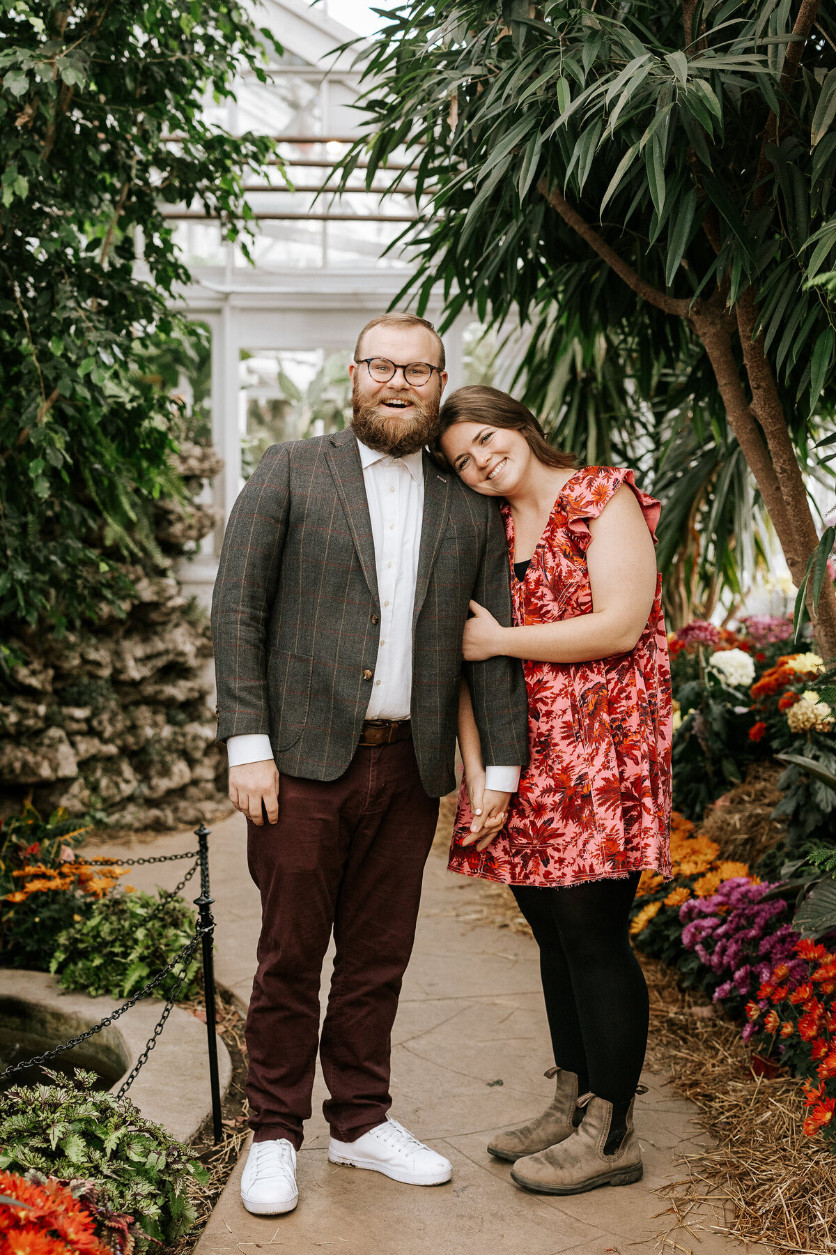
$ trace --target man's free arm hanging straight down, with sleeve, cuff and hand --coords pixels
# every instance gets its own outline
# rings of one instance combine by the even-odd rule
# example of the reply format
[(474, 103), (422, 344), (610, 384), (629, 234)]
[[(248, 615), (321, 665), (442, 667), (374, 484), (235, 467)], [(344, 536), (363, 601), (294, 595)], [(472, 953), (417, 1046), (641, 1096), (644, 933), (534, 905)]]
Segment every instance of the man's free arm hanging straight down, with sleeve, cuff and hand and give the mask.
[(268, 449), (234, 505), (212, 597), (218, 739), (228, 740), (229, 797), (257, 823), (278, 817), (269, 744), (267, 626), (290, 506), (288, 456)]

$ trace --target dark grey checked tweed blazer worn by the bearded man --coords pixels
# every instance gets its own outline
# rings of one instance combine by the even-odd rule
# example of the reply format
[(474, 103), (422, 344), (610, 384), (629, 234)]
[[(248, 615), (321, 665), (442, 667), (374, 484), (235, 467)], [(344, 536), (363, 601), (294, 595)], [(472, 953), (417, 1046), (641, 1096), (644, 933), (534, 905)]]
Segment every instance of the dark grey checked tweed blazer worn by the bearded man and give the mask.
[[(510, 624), (496, 503), (424, 454), (412, 615), (412, 739), (431, 797), (455, 787), (461, 633), (475, 599)], [(341, 776), (360, 740), (380, 646), (375, 545), (357, 439), (267, 449), (227, 525), (212, 600), (218, 739), (267, 733), (280, 772)], [(528, 762), (523, 666), (464, 664), (485, 766)]]

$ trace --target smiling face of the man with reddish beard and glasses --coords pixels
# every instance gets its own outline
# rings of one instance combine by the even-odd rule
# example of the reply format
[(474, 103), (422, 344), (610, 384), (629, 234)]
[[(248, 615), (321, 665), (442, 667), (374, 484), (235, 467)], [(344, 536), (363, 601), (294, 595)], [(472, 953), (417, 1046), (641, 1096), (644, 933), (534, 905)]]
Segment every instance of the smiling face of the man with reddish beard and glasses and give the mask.
[(435, 435), (446, 371), (439, 375), (439, 341), (422, 326), (371, 328), (360, 346), (360, 358), (387, 358), (397, 365), (425, 361), (436, 369), (425, 384), (410, 384), (402, 370), (386, 383), (372, 379), (365, 361), (352, 361), (352, 428), (358, 441), (379, 453), (405, 457)]

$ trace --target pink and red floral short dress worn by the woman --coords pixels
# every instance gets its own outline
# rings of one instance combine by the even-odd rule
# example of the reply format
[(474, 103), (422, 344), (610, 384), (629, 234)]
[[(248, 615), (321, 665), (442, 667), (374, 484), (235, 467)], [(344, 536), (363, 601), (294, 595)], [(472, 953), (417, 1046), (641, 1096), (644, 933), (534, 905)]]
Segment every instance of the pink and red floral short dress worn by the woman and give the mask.
[[(554, 503), (525, 579), (511, 567), (514, 624), (590, 614), (587, 521), (629, 484), (656, 541), (659, 503), (633, 472), (577, 471)], [(501, 507), (509, 562), (514, 522)], [(657, 580), (647, 626), (629, 654), (592, 663), (524, 661), (530, 762), (500, 835), (461, 846), (471, 823), (462, 781), (450, 871), (506, 885), (577, 885), (652, 868), (671, 875), (671, 668)]]

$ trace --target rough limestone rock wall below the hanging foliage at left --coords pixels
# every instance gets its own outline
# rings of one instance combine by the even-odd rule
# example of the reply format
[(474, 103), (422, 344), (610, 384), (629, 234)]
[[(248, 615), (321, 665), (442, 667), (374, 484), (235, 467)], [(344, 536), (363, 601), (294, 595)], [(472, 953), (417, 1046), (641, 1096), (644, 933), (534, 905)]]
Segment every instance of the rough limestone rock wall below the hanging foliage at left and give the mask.
[[(184, 444), (180, 473), (197, 496), (221, 469)], [(211, 508), (159, 503), (157, 538), (172, 560), (214, 526)], [(167, 572), (129, 572), (127, 616), (63, 639), (19, 626), (25, 661), (0, 690), (0, 816), (24, 798), (100, 825), (164, 830), (229, 809), (226, 754), (214, 742), (212, 639), (206, 611)]]

